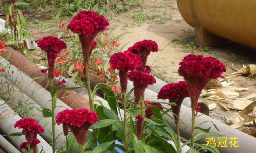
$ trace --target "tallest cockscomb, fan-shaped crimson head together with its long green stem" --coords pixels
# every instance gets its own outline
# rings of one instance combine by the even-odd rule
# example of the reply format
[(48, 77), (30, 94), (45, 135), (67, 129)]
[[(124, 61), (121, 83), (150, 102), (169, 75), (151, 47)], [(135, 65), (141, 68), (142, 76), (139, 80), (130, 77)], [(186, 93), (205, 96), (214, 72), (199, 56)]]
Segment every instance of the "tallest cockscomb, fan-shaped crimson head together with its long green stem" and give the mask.
[[(109, 21), (102, 15), (94, 11), (81, 11), (70, 21), (67, 29), (70, 29), (73, 33), (79, 35), (79, 40), (82, 46), (83, 52), (83, 64), (84, 64), (84, 80), (85, 86), (88, 89), (89, 105), (91, 111), (94, 111), (94, 103), (91, 93), (91, 84), (89, 77), (89, 59), (91, 57), (92, 50), (97, 46), (94, 41), (96, 35), (107, 29)], [(97, 142), (97, 133), (93, 129), (94, 141)]]

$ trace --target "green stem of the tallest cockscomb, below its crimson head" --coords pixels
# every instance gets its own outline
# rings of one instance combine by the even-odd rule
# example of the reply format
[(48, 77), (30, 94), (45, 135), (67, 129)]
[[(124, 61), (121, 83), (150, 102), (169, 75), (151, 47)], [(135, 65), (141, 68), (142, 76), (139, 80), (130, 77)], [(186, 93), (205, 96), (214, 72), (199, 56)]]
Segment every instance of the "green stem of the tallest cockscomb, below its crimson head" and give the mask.
[[(88, 63), (84, 64), (84, 72), (85, 72), (85, 78), (86, 78), (86, 86), (88, 90), (88, 96), (89, 96), (89, 105), (91, 111), (94, 111), (94, 104), (92, 100), (92, 93), (91, 93), (91, 83), (90, 83), (90, 77), (89, 77), (89, 72), (88, 72)], [(97, 142), (97, 132), (96, 129), (92, 129), (93, 137), (94, 137), (94, 142)]]

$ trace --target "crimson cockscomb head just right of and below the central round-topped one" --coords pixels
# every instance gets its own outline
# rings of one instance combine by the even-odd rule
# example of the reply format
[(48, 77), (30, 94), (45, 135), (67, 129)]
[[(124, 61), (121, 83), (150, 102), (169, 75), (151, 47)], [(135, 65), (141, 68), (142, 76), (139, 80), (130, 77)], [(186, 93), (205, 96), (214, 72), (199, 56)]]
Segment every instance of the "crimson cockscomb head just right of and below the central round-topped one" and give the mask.
[(147, 86), (156, 82), (153, 75), (139, 70), (129, 72), (128, 78), (133, 81), (135, 104), (139, 104), (140, 98), (146, 90)]

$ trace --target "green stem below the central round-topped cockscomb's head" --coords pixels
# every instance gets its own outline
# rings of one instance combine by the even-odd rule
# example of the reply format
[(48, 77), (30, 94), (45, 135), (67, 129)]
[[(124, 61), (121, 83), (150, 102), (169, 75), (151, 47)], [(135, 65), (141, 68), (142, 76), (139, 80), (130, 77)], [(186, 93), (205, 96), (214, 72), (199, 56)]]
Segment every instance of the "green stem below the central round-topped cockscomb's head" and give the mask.
[(122, 93), (123, 105), (124, 105), (124, 148), (125, 152), (128, 153), (129, 142), (128, 142), (128, 122), (127, 122), (127, 110), (126, 110), (126, 93)]

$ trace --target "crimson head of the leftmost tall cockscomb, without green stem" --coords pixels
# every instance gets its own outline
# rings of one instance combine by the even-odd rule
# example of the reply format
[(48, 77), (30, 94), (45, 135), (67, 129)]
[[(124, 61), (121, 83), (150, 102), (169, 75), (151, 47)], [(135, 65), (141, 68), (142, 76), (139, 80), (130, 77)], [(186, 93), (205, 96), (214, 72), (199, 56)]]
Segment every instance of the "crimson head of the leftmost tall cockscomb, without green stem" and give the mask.
[(66, 49), (67, 46), (64, 41), (60, 40), (57, 37), (48, 36), (43, 37), (37, 42), (38, 47), (44, 50), (47, 54), (48, 59), (48, 77), (54, 78), (54, 63), (57, 55), (63, 49)]

